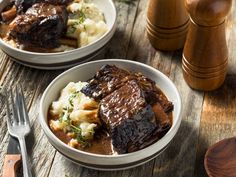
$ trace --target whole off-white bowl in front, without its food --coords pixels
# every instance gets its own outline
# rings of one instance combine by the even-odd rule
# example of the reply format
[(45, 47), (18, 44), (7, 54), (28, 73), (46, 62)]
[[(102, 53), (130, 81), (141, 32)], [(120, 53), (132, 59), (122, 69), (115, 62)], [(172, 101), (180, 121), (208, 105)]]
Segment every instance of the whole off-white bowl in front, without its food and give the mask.
[[(60, 91), (69, 83), (86, 81), (105, 64), (116, 65), (130, 71), (142, 72), (154, 80), (167, 98), (174, 104), (173, 125), (167, 134), (154, 144), (132, 153), (122, 155), (98, 155), (69, 147), (58, 139), (50, 130), (47, 121), (48, 108), (58, 99)], [(78, 65), (55, 78), (45, 90), (40, 102), (41, 127), (49, 142), (65, 157), (82, 166), (99, 170), (120, 170), (141, 165), (159, 155), (175, 136), (181, 123), (181, 99), (172, 81), (160, 71), (134, 61), (107, 59)]]

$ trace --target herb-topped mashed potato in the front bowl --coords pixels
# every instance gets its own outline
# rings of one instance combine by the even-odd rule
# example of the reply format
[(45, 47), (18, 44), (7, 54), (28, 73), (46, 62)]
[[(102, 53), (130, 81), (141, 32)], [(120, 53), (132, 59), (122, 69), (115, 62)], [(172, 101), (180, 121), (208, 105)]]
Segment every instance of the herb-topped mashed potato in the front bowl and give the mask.
[(52, 102), (49, 114), (55, 119), (49, 121), (53, 131), (63, 131), (72, 137), (68, 145), (85, 145), (93, 139), (94, 129), (100, 125), (97, 117), (98, 103), (85, 96), (80, 90), (86, 82), (70, 82), (61, 91), (57, 101)]

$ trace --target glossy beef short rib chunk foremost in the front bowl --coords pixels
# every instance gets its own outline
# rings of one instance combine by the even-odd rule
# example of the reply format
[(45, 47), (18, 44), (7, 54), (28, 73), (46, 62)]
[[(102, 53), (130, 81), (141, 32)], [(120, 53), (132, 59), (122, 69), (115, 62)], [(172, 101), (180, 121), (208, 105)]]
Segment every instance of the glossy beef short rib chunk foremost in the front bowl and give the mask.
[(118, 153), (140, 149), (158, 126), (152, 107), (147, 104), (144, 92), (135, 80), (103, 98), (99, 115)]

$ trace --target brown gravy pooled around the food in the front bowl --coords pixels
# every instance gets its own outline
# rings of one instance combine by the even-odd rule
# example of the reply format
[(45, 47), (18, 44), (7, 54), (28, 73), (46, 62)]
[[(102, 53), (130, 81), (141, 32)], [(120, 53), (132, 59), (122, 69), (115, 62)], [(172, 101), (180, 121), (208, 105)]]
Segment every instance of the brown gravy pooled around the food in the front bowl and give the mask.
[[(167, 99), (167, 97), (164, 95), (164, 93), (161, 90), (160, 90), (160, 94), (163, 99)], [(172, 121), (173, 121), (172, 112), (168, 114), (168, 117), (166, 117), (162, 113), (163, 110), (161, 111), (156, 105), (153, 106), (153, 111), (154, 111), (156, 117), (159, 117), (160, 119), (162, 119), (162, 121), (164, 120), (164, 121), (171, 122), (171, 125), (172, 125)], [(58, 119), (58, 118), (53, 117), (48, 113), (48, 124), (49, 124), (50, 120), (56, 120), (56, 119)], [(53, 131), (53, 133), (61, 141), (63, 141), (66, 144), (68, 144), (69, 141), (72, 139), (63, 131)], [(94, 139), (90, 143), (91, 143), (91, 145), (88, 147), (77, 148), (77, 149), (85, 151), (85, 152), (90, 152), (90, 153), (94, 153), (94, 154), (103, 154), (103, 155), (112, 155), (112, 154), (116, 153), (113, 150), (111, 137), (109, 136), (109, 134), (105, 130), (99, 130), (98, 132), (96, 132)]]

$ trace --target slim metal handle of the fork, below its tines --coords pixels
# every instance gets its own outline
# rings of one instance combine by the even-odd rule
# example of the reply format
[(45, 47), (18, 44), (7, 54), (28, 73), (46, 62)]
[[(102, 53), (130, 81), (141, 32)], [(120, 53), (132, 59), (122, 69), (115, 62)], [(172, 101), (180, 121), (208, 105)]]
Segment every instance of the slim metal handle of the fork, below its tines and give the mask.
[(22, 164), (23, 164), (23, 176), (24, 177), (32, 177), (31, 167), (28, 161), (28, 154), (26, 150), (25, 138), (19, 138), (21, 155), (22, 155)]

